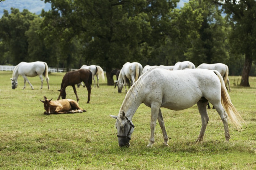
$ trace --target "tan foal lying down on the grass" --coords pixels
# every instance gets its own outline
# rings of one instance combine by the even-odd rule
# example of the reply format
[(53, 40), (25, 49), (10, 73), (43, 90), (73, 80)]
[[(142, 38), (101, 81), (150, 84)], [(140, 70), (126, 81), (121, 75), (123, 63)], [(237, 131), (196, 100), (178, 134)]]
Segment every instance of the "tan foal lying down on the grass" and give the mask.
[[(42, 100), (40, 100), (42, 101)], [(86, 112), (86, 110), (82, 109), (78, 106), (78, 103), (75, 100), (71, 99), (63, 99), (63, 100), (48, 100), (44, 96), (44, 114), (50, 115), (50, 114), (62, 114), (62, 113), (82, 113)]]

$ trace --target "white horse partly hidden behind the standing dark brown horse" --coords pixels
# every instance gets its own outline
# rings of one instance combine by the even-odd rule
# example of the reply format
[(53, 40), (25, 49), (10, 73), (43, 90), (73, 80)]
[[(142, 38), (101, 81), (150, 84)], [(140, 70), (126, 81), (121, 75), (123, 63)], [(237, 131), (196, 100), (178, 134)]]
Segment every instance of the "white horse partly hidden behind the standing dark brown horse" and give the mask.
[[(105, 81), (104, 71), (98, 65), (90, 65), (90, 66), (82, 65), (82, 67), (80, 69), (88, 69), (88, 70), (92, 71), (92, 79), (94, 81), (94, 87), (96, 87), (96, 83), (95, 83), (95, 79), (94, 79), (95, 75), (97, 77), (97, 87), (100, 87), (99, 86), (99, 76), (100, 76), (101, 80)], [(84, 86), (83, 82), (81, 82), (81, 85)], [(77, 87), (79, 87), (79, 86), (80, 86), (80, 84), (77, 85)]]

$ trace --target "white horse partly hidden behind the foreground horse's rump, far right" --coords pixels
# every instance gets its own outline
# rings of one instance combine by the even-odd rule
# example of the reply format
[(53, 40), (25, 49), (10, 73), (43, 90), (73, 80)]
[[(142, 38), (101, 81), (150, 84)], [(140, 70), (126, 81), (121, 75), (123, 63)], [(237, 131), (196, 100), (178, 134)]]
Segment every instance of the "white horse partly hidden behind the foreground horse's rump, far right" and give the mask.
[(225, 85), (228, 83), (228, 90), (230, 92), (230, 84), (228, 79), (228, 66), (223, 63), (215, 63), (215, 64), (200, 64), (197, 69), (209, 69), (209, 70), (217, 70), (220, 72), (222, 78), (224, 79)]

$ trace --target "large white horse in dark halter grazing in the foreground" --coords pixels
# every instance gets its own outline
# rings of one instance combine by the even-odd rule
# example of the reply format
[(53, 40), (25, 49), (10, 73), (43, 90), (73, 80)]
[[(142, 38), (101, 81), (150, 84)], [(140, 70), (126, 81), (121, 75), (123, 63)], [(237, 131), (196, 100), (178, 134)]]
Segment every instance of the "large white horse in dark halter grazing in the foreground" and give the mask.
[[(237, 129), (241, 129), (242, 117), (231, 103), (220, 73), (216, 70), (190, 69), (169, 71), (153, 68), (143, 74), (127, 92), (116, 118), (118, 144), (129, 146), (134, 125), (132, 117), (141, 103), (151, 107), (151, 136), (148, 146), (155, 143), (156, 120), (162, 129), (164, 144), (168, 146), (168, 136), (164, 126), (161, 107), (183, 110), (197, 104), (202, 127), (197, 142), (203, 140), (209, 121), (206, 105), (211, 102), (224, 124), (226, 141), (230, 135), (228, 118)], [(225, 110), (224, 110), (225, 109)]]

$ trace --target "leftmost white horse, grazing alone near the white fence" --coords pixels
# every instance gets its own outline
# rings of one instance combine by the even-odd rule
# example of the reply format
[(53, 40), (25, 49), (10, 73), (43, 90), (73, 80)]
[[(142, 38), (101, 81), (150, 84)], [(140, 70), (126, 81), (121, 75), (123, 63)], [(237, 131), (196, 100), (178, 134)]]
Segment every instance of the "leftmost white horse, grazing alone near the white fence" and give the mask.
[(41, 79), (41, 89), (43, 88), (43, 82), (45, 77), (45, 80), (48, 85), (48, 89), (50, 89), (49, 86), (49, 77), (48, 77), (48, 65), (45, 62), (41, 61), (36, 61), (32, 63), (26, 63), (26, 62), (21, 62), (18, 65), (15, 66), (13, 72), (12, 72), (12, 89), (17, 88), (18, 86), (18, 77), (21, 75), (24, 78), (24, 87), (23, 89), (26, 88), (26, 81), (28, 84), (31, 86), (32, 90), (34, 87), (31, 85), (31, 83), (28, 81), (28, 77), (35, 77), (39, 76)]

